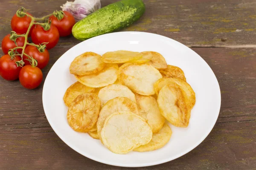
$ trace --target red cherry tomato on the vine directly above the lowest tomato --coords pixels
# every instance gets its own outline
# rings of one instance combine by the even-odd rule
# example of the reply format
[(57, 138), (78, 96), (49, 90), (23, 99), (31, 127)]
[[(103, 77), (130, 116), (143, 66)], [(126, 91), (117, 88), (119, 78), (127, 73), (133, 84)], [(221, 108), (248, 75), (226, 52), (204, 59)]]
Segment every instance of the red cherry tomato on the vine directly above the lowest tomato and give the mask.
[[(49, 52), (48, 52), (47, 49), (45, 49), (44, 52), (40, 52), (40, 51), (38, 51), (38, 49), (35, 46), (28, 45), (25, 48), (24, 52), (26, 54), (28, 54), (30, 57), (33, 57), (34, 59), (36, 59), (38, 61), (37, 67), (40, 68), (40, 69), (45, 68), (45, 66), (49, 62), (50, 57), (49, 57)], [(26, 60), (26, 59), (29, 59), (29, 57), (24, 55), (23, 56), (23, 61), (25, 62), (25, 65), (30, 65), (29, 61)]]

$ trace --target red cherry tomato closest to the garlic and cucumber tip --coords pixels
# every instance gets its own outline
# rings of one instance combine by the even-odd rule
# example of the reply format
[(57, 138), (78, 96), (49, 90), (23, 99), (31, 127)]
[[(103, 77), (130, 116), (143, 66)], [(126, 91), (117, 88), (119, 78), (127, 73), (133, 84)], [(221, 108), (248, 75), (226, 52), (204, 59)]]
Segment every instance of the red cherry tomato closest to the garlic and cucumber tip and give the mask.
[(75, 25), (76, 21), (73, 15), (64, 11), (64, 17), (61, 20), (58, 20), (54, 15), (49, 17), (52, 20), (52, 24), (58, 28), (60, 37), (66, 37), (72, 33), (72, 27)]

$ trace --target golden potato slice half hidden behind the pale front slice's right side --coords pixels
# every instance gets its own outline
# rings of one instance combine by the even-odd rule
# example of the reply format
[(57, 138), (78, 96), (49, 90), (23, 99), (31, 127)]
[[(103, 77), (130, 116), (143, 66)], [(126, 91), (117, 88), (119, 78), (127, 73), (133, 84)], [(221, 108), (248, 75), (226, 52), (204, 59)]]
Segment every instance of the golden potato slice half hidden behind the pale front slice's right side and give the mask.
[(136, 94), (139, 115), (148, 121), (153, 133), (159, 132), (163, 127), (165, 118), (161, 115), (157, 100), (153, 96)]

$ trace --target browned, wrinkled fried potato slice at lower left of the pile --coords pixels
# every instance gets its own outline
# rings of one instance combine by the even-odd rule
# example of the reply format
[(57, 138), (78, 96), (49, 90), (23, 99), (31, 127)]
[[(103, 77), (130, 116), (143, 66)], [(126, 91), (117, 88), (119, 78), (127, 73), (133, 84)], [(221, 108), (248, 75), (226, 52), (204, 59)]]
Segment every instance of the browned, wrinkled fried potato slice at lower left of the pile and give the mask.
[(77, 132), (88, 132), (98, 119), (99, 109), (100, 99), (96, 94), (80, 94), (68, 108), (67, 122)]

